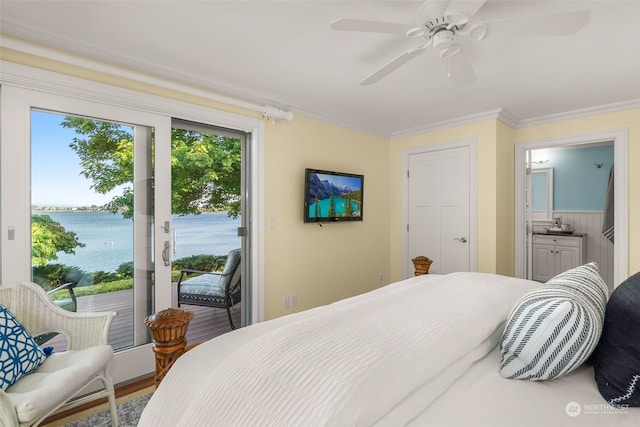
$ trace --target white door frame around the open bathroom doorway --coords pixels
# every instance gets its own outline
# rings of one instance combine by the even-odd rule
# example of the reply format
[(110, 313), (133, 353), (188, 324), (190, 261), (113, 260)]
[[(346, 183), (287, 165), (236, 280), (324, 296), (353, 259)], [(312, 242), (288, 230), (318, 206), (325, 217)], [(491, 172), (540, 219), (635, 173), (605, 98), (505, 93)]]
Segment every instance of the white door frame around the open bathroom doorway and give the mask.
[(524, 278), (526, 268), (526, 220), (525, 220), (525, 190), (526, 190), (526, 153), (529, 150), (539, 150), (553, 147), (569, 147), (572, 145), (595, 144), (613, 141), (614, 146), (614, 197), (615, 214), (614, 225), (616, 242), (614, 244), (614, 288), (628, 276), (628, 200), (627, 200), (627, 145), (628, 131), (626, 128), (589, 132), (578, 135), (545, 138), (534, 141), (518, 142), (515, 145), (515, 276)]

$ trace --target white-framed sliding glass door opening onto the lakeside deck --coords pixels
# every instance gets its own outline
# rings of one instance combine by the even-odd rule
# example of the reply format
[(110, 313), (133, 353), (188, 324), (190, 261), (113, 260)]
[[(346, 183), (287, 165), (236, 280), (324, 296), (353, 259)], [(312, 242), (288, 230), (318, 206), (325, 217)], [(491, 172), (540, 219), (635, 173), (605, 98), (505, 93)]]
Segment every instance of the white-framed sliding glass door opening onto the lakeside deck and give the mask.
[[(33, 280), (47, 291), (70, 283), (77, 304), (68, 304), (68, 291), (50, 295), (61, 307), (117, 311), (109, 337), (116, 350), (116, 383), (155, 371), (144, 320), (175, 306), (172, 263), (184, 258), (189, 239), (195, 251), (212, 255), (242, 248), (242, 303), (234, 314), (239, 311), (241, 325), (260, 321), (263, 254), (251, 242), (261, 241), (263, 233), (263, 122), (47, 73), (34, 72), (24, 85), (25, 75), (17, 68), (4, 70), (0, 88), (0, 282)], [(45, 82), (49, 78), (53, 82)], [(173, 120), (174, 109), (193, 122)], [(172, 144), (172, 134), (212, 120), (244, 129), (223, 135), (228, 128), (209, 123), (195, 130), (242, 146), (240, 154), (231, 150), (241, 157), (240, 180), (225, 183), (239, 199), (228, 200), (236, 213), (231, 216), (232, 211), (217, 207), (205, 207), (198, 215), (212, 219), (211, 228), (214, 216), (225, 222), (222, 235), (196, 232), (193, 238), (193, 227), (190, 231), (182, 224), (185, 218), (172, 210), (172, 173), (177, 171), (172, 162), (180, 149)], [(204, 145), (183, 148), (189, 147)], [(238, 237), (245, 232), (246, 237)], [(229, 244), (219, 245), (223, 240)], [(46, 338), (52, 343), (60, 339)]]

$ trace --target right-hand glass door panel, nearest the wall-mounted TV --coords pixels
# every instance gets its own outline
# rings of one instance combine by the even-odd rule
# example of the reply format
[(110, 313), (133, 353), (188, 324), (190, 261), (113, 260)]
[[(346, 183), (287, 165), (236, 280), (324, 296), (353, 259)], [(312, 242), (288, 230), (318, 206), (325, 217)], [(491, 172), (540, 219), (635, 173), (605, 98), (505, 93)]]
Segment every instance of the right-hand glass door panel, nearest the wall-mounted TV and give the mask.
[[(234, 327), (244, 323), (244, 295), (232, 298), (233, 307), (227, 311), (195, 301), (178, 304), (177, 288), (178, 282), (181, 286), (200, 282), (212, 286), (210, 289), (225, 283), (220, 279), (228, 271), (226, 257), (230, 251), (242, 248), (238, 229), (242, 226), (243, 213), (241, 177), (245, 137), (240, 132), (176, 119), (171, 135), (172, 304), (194, 312), (187, 341), (198, 342), (231, 330), (229, 313)], [(224, 289), (218, 291), (224, 300)], [(238, 293), (241, 293), (240, 287)]]

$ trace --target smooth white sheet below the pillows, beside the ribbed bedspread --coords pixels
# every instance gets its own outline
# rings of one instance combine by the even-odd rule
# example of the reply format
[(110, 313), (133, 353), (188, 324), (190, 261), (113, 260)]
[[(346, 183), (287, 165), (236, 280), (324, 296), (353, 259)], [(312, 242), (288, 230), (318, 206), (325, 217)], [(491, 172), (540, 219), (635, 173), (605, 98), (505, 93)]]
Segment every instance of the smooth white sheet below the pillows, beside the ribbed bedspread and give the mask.
[(500, 376), (496, 347), (410, 427), (638, 427), (640, 408), (614, 408), (598, 393), (585, 363), (553, 381)]

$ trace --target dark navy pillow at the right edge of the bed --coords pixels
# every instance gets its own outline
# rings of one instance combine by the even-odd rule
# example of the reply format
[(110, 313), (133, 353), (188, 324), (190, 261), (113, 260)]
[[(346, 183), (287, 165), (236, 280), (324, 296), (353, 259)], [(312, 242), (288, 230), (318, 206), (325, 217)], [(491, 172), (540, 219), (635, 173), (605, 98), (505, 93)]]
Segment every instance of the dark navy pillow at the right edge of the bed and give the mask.
[(640, 407), (640, 273), (611, 294), (591, 360), (598, 390), (607, 402)]

